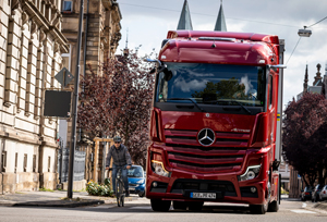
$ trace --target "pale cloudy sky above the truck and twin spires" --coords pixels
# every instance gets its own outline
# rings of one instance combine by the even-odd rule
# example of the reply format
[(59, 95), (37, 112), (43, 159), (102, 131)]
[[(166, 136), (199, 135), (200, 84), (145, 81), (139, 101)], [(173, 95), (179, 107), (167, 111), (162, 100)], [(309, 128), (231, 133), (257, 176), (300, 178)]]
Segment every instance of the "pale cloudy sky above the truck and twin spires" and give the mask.
[[(129, 48), (138, 48), (138, 53), (145, 55), (154, 49), (158, 53), (168, 30), (177, 29), (184, 0), (117, 2), (122, 14), (122, 39), (117, 53), (125, 47), (128, 36)], [(214, 30), (220, 0), (187, 2), (193, 29)], [(324, 76), (327, 63), (327, 18), (313, 24), (327, 16), (327, 0), (223, 0), (222, 7), (228, 32), (270, 34), (286, 40), (284, 64), (288, 67), (283, 77), (283, 109), (303, 91), (306, 64), (310, 86), (313, 85), (318, 63)], [(298, 30), (311, 25), (308, 29), (312, 36), (300, 39)]]

